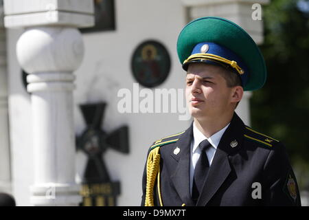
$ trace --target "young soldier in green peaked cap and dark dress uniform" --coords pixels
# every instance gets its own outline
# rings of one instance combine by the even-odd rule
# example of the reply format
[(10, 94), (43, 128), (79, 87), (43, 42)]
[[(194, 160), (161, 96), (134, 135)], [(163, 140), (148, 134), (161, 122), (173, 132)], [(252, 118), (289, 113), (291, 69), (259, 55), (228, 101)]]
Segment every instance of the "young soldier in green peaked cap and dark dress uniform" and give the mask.
[[(235, 23), (203, 17), (179, 34), (189, 129), (150, 146), (142, 206), (300, 206), (284, 144), (235, 113), (266, 80), (264, 58)], [(262, 113), (262, 112), (261, 112)]]

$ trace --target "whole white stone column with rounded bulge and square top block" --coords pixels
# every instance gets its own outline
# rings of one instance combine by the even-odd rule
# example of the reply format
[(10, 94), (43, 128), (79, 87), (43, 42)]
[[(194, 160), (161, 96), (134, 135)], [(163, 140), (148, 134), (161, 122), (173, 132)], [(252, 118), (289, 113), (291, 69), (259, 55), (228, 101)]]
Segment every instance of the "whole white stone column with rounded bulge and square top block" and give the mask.
[[(76, 206), (73, 72), (84, 45), (76, 27), (94, 23), (92, 0), (5, 1), (5, 27), (25, 28), (16, 44), (32, 93), (34, 206)], [(43, 11), (43, 12), (42, 12)]]

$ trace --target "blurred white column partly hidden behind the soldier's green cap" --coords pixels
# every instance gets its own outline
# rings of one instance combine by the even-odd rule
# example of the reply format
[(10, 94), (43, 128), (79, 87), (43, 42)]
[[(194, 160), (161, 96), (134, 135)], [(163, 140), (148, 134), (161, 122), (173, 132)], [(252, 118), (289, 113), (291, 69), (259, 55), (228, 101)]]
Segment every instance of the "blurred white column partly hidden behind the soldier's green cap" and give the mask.
[[(264, 41), (262, 5), (269, 3), (269, 0), (182, 0), (182, 2), (187, 8), (187, 22), (199, 17), (222, 17), (240, 25), (256, 44), (260, 45)], [(236, 109), (244, 123), (248, 125), (251, 124), (251, 96), (251, 91), (245, 91)]]

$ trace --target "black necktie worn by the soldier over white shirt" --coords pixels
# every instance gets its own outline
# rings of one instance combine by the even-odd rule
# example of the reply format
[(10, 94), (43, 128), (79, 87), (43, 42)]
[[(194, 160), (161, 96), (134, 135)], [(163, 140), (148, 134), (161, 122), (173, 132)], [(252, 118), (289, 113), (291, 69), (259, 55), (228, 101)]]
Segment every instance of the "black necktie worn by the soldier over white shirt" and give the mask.
[(195, 203), (203, 189), (204, 181), (209, 170), (209, 162), (206, 155), (206, 149), (209, 148), (209, 146), (211, 146), (211, 144), (207, 140), (203, 140), (201, 144), (198, 144), (198, 147), (201, 148), (201, 155), (195, 166), (192, 183), (192, 199)]

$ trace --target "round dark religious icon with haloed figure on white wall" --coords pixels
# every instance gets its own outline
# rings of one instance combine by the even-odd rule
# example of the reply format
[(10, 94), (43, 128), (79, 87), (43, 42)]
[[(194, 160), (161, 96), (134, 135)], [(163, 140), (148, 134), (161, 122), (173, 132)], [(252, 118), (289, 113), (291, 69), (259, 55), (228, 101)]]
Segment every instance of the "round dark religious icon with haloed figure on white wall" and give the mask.
[(133, 76), (144, 87), (156, 87), (163, 83), (170, 72), (170, 55), (157, 41), (141, 43), (133, 53)]

